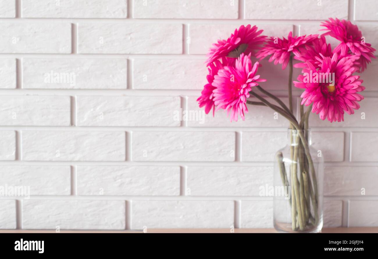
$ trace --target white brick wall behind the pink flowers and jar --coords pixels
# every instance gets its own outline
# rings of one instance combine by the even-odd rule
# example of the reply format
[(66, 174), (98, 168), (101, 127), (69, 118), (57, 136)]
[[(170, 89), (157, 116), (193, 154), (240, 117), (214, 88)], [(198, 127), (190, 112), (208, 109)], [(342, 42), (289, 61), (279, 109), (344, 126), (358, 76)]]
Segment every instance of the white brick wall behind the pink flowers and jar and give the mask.
[[(258, 192), (287, 122), (261, 106), (236, 123), (224, 111), (174, 117), (201, 110), (208, 48), (242, 24), (281, 37), (319, 33), (328, 17), (378, 48), (373, 0), (56, 3), (0, 0), (0, 185), (31, 194), (0, 197), (0, 229), (271, 228), (272, 199)], [(288, 69), (261, 64), (262, 86), (287, 103)], [(343, 123), (310, 116), (328, 227), (378, 226), (377, 74), (373, 60)]]

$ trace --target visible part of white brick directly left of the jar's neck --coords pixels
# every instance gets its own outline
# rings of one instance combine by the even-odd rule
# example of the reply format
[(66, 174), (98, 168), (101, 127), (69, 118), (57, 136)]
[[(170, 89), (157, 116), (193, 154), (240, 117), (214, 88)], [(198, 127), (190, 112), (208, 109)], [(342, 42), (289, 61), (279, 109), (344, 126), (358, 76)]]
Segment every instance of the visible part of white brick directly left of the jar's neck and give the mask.
[(286, 144), (286, 132), (242, 132), (242, 161), (274, 161), (276, 152)]

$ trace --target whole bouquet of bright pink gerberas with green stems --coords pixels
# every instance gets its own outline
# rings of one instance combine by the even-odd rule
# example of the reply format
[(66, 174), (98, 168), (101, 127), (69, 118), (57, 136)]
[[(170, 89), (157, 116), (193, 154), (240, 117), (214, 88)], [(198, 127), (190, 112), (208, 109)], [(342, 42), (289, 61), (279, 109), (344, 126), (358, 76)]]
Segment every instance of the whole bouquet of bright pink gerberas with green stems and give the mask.
[[(324, 33), (320, 36), (315, 34), (298, 37), (290, 32), (287, 39), (263, 36), (263, 31), (256, 26), (240, 26), (228, 39), (218, 40), (210, 48), (206, 60), (208, 83), (204, 85), (201, 96), (197, 99), (206, 114), (212, 110), (214, 116), (216, 110), (227, 110), (231, 122), (237, 121), (239, 115), (245, 119), (247, 104), (268, 106), (288, 119), (290, 129), (296, 131), (296, 143), (300, 143), (297, 147), (293, 145), (290, 159), (295, 162), (298, 160), (300, 169), (312, 175), (308, 177), (307, 184), (301, 174), (299, 180), (292, 174), (291, 186), (294, 191), (290, 204), (293, 231), (304, 231), (307, 225), (316, 225), (319, 222), (316, 174), (308, 149), (308, 138), (303, 133), (308, 129), (309, 113), (319, 114), (322, 120), (328, 119), (331, 123), (344, 121), (344, 112), (353, 114), (360, 107), (358, 102), (364, 99), (360, 92), (365, 89), (356, 72), (363, 72), (371, 58), (375, 58), (375, 49), (364, 41), (361, 31), (350, 21), (330, 18), (322, 22), (321, 26), (324, 27), (321, 30)], [(325, 40), (326, 35), (336, 38), (340, 44), (332, 50)], [(260, 86), (266, 79), (260, 78), (258, 70), (261, 65), (257, 59), (268, 56), (269, 62), (281, 64), (282, 69), (289, 66), (289, 107), (266, 91), (263, 84)], [(295, 65), (293, 58), (299, 60)], [(302, 69), (302, 75), (294, 82), (293, 67)], [(301, 95), (300, 120), (293, 114), (292, 83), (295, 87), (304, 89)], [(248, 100), (250, 95), (258, 101)], [(266, 97), (274, 100), (276, 104), (268, 101)], [(308, 106), (306, 112), (304, 106)], [(292, 141), (295, 143), (295, 138)], [(282, 156), (281, 162), (283, 163)], [(296, 167), (290, 167), (294, 175)], [(280, 168), (285, 169), (284, 166)], [(281, 175), (283, 183), (287, 183), (287, 176), (283, 172)], [(309, 208), (310, 204), (312, 210)]]

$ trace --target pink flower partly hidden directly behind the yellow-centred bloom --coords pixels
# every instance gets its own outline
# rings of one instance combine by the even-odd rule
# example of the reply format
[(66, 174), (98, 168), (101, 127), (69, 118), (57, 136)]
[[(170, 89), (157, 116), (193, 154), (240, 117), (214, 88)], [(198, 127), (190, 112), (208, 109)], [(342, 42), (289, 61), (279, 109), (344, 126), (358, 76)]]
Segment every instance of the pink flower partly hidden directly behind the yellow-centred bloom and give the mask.
[(309, 61), (314, 67), (318, 67), (321, 66), (324, 57), (332, 56), (331, 45), (327, 44), (324, 36), (321, 36), (299, 48), (299, 55), (294, 56), (294, 59), (302, 62), (294, 64), (294, 67), (308, 68), (307, 61)]

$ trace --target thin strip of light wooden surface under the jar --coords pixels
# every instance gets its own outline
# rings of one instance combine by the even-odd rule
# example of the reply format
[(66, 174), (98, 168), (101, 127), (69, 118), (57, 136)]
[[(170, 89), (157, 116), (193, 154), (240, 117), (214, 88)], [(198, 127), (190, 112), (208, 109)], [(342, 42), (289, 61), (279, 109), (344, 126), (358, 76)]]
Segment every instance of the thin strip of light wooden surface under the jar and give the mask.
[[(0, 233), (55, 233), (55, 230), (0, 230)], [(60, 233), (143, 233), (141, 230), (61, 230)], [(230, 233), (229, 228), (151, 228), (147, 233)], [(274, 228), (235, 228), (235, 233), (277, 233)], [(378, 227), (323, 228), (322, 233), (378, 233)]]

